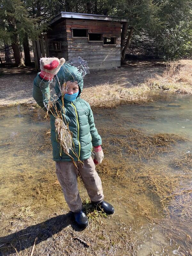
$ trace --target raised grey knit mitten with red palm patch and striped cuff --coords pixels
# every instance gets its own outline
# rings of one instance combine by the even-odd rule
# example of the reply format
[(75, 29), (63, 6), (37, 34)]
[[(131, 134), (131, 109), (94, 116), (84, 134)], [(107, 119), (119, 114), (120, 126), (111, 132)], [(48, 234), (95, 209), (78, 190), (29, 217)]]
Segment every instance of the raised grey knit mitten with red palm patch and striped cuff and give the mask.
[(53, 76), (57, 75), (60, 67), (65, 63), (65, 59), (61, 58), (41, 58), (40, 69), (41, 73), (39, 76), (45, 80), (52, 80)]

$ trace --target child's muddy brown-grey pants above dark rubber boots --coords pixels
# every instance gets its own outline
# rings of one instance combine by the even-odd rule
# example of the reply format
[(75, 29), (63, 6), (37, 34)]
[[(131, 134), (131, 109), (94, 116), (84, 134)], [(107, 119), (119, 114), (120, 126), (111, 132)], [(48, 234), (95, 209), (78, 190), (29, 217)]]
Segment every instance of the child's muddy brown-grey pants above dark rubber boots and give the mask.
[[(70, 162), (56, 162), (56, 174), (63, 190), (65, 200), (72, 212), (82, 210), (82, 201), (77, 189), (78, 172), (83, 180), (84, 186), (92, 202), (103, 201), (103, 189), (101, 179), (95, 171), (92, 157), (78, 164), (78, 170)], [(77, 162), (76, 162), (77, 164)]]

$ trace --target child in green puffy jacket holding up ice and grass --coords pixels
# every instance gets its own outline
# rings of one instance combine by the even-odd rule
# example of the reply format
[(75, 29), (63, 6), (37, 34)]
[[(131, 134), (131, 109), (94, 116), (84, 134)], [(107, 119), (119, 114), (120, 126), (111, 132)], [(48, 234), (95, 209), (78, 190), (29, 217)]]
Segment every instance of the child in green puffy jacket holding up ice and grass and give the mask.
[[(41, 88), (48, 91), (50, 81), (57, 75), (59, 84), (66, 83), (67, 90), (64, 92), (64, 108), (62, 108), (61, 96), (55, 102), (57, 108), (62, 113), (65, 124), (68, 124), (72, 133), (75, 151), (80, 159), (70, 150), (69, 154), (74, 158), (77, 165), (71, 160), (71, 157), (60, 150), (60, 144), (55, 132), (55, 117), (51, 118), (51, 141), (53, 148), (53, 160), (56, 162), (56, 174), (63, 190), (65, 200), (73, 212), (75, 221), (80, 227), (88, 226), (88, 219), (82, 210), (82, 201), (77, 189), (77, 175), (80, 174), (87, 193), (92, 204), (97, 209), (102, 209), (107, 214), (114, 213), (111, 204), (103, 200), (103, 190), (100, 177), (95, 171), (95, 164), (100, 164), (103, 160), (103, 151), (101, 148), (101, 138), (94, 124), (92, 110), (85, 100), (80, 98), (83, 89), (82, 73), (67, 63), (65, 59), (41, 58), (40, 68), (34, 80), (33, 97), (37, 104), (44, 110), (44, 97)], [(57, 81), (57, 79), (55, 79)], [(94, 162), (91, 157), (92, 146), (95, 149)], [(94, 164), (95, 163), (95, 164)]]

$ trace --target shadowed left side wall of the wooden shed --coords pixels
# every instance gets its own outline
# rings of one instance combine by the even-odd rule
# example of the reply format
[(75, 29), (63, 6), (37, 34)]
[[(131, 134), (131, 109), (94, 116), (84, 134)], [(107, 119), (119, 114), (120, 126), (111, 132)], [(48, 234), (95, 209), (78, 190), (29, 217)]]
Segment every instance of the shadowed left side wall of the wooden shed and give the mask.
[[(60, 50), (54, 50), (54, 42), (60, 42)], [(68, 60), (67, 33), (65, 20), (57, 25), (53, 25), (51, 30), (47, 32), (47, 43), (49, 48), (49, 57), (65, 58), (65, 60)]]

